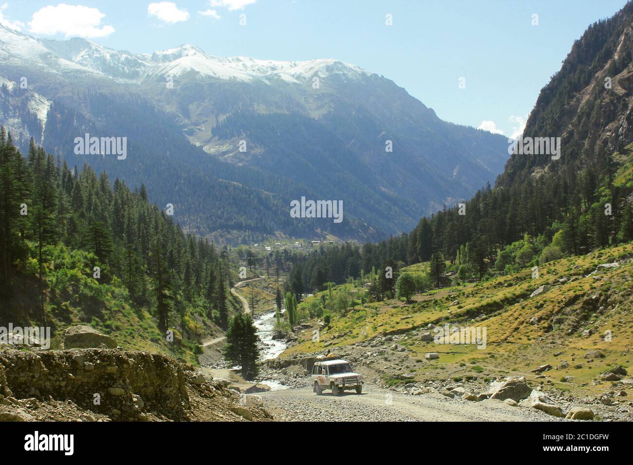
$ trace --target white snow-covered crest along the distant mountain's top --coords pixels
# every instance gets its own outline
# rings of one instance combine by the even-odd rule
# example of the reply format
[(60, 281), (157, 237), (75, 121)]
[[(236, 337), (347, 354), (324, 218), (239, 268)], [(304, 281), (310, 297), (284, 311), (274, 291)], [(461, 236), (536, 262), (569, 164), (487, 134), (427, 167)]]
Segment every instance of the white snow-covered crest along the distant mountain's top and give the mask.
[(217, 57), (191, 44), (153, 54), (132, 54), (79, 37), (69, 40), (35, 39), (3, 25), (0, 25), (0, 58), (13, 64), (34, 65), (35, 61), (61, 73), (92, 72), (114, 80), (137, 82), (156, 76), (180, 77), (185, 73), (195, 73), (203, 78), (242, 82), (281, 78), (299, 84), (315, 75), (327, 77), (337, 74), (358, 78), (370, 74), (358, 66), (335, 59), (273, 61), (242, 56)]

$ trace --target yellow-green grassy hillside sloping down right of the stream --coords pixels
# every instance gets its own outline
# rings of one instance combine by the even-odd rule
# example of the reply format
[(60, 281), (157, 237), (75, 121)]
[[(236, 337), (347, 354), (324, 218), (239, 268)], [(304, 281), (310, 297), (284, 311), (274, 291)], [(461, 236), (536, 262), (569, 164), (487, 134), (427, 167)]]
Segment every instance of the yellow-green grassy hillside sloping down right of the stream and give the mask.
[[(617, 266), (600, 266), (610, 263)], [(367, 303), (334, 314), (318, 341), (303, 332), (299, 344), (282, 356), (345, 350), (378, 335), (399, 335), (398, 344), (411, 359), (421, 362), (426, 352), (440, 354), (432, 363), (411, 365), (409, 371), (420, 379), (477, 373), (536, 378), (532, 369), (551, 364), (547, 375), (557, 387), (598, 392), (610, 384), (598, 379), (609, 367), (633, 366), (632, 276), (633, 245), (628, 244), (546, 263), (537, 278), (525, 269), (418, 294), (411, 304), (397, 299)], [(530, 297), (541, 286), (546, 292)], [(486, 347), (424, 342), (421, 335), (429, 324), (485, 327)], [(598, 355), (586, 357), (589, 350)]]

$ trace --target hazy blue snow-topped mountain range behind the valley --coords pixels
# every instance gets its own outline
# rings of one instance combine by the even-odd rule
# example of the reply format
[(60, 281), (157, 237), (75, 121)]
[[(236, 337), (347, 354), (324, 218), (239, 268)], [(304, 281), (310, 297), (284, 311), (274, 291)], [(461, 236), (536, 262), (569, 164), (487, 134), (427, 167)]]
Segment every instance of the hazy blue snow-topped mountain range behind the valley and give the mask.
[[(50, 102), (54, 121), (36, 115), (39, 138), (14, 125), (16, 144), (35, 134), (71, 165), (145, 182), (160, 204), (179, 203), (189, 230), (231, 242), (400, 233), (494, 180), (507, 159), (505, 138), (441, 121), (390, 80), (334, 59), (218, 58), (191, 45), (132, 54), (3, 26), (0, 58), (0, 76), (27, 77), (25, 93)], [(128, 137), (132, 156), (75, 156), (86, 132)], [(341, 200), (343, 223), (290, 218), (301, 197)], [(225, 213), (210, 212), (217, 206)]]

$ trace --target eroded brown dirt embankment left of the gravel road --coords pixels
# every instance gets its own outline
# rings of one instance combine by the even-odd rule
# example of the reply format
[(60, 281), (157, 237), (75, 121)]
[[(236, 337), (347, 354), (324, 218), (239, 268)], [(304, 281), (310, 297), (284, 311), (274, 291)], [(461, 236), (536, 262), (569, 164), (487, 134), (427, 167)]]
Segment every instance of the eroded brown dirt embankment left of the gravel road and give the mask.
[(172, 357), (120, 349), (0, 351), (0, 421), (265, 421), (254, 396)]

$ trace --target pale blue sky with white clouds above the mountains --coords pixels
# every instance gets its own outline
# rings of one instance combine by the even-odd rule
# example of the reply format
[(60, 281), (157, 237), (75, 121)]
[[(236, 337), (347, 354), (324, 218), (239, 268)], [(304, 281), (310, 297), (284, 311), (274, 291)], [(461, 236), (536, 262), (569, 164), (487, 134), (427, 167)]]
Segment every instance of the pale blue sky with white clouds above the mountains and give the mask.
[[(393, 80), (443, 120), (473, 127), (487, 121), (484, 128), (510, 136), (573, 41), (625, 3), (81, 0), (60, 8), (51, 1), (7, 0), (0, 22), (38, 37), (83, 35), (133, 53), (189, 43), (217, 56), (336, 58)], [(391, 26), (385, 25), (387, 14)], [(535, 14), (538, 25), (532, 24)], [(246, 25), (239, 24), (240, 15), (246, 15)]]

